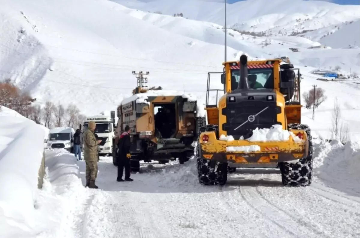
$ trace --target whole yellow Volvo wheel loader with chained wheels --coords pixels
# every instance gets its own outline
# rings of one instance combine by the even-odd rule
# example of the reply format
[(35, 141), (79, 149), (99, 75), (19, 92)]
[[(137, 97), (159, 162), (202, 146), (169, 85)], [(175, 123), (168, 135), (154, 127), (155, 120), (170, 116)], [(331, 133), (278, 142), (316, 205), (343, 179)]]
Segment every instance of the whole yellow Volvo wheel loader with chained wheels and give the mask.
[[(281, 59), (248, 61), (246, 55), (223, 65), (223, 88), (211, 89), (215, 72), (208, 73), (208, 124), (199, 128), (195, 156), (199, 182), (224, 185), (236, 168), (279, 168), (284, 185), (311, 184), (312, 138), (301, 124), (300, 70)], [(213, 91), (224, 92), (215, 105)]]

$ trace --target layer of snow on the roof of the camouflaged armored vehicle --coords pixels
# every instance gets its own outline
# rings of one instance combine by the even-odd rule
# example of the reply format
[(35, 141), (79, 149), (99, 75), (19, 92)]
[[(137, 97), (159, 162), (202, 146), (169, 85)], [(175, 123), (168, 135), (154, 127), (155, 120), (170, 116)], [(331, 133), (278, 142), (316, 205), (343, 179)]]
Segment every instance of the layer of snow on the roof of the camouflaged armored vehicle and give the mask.
[(131, 97), (127, 97), (126, 99), (121, 101), (120, 105), (127, 104), (134, 100), (136, 100), (136, 103), (150, 104), (147, 101), (149, 97), (158, 97), (158, 96), (182, 96), (183, 98), (187, 98), (188, 101), (192, 101), (192, 102), (196, 101), (195, 97), (176, 90), (149, 90), (146, 93), (138, 93), (132, 95)]

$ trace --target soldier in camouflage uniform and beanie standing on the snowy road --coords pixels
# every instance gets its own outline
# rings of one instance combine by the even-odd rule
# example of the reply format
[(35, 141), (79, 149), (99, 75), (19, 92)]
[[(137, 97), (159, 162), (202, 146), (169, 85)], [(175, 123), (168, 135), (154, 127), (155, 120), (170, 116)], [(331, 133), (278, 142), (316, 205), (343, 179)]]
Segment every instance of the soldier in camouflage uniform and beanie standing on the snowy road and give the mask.
[(98, 175), (98, 145), (101, 140), (96, 140), (94, 130), (96, 124), (89, 122), (88, 129), (84, 132), (84, 160), (86, 163), (86, 185), (89, 188), (98, 188), (95, 179)]

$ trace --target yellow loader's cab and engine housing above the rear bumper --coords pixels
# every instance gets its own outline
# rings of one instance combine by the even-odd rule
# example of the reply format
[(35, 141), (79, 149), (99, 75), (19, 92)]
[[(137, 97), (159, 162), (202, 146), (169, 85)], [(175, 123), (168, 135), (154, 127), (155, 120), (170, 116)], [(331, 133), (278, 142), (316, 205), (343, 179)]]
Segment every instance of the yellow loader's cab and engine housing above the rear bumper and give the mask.
[[(292, 64), (284, 64), (281, 59), (247, 61), (246, 57), (246, 63), (243, 66), (240, 61), (223, 63), (222, 87), (216, 89), (217, 92), (222, 91), (223, 95), (220, 97), (216, 95), (216, 104), (208, 103), (210, 91), (213, 90), (209, 85), (210, 74), (214, 74), (208, 73), (206, 99), (208, 124), (219, 125), (219, 133), (226, 135), (227, 131), (233, 132), (236, 128), (230, 130), (233, 124), (248, 125), (248, 116), (253, 119), (254, 115), (258, 120), (255, 122), (256, 126), (259, 128), (269, 128), (266, 125), (274, 123), (282, 124), (283, 129), (287, 129), (289, 123), (301, 123), (300, 70), (294, 69)], [(240, 69), (241, 67), (243, 68)], [(238, 101), (237, 106), (230, 106), (235, 102), (231, 100)], [(266, 104), (269, 100), (274, 100), (274, 103)], [(265, 111), (276, 111), (277, 114), (272, 115), (270, 112), (266, 115), (258, 114), (260, 109), (265, 109), (267, 106), (270, 107)], [(229, 109), (232, 107), (234, 108)], [(274, 109), (270, 109), (271, 107)], [(251, 115), (245, 116), (250, 111)], [(229, 114), (230, 112), (233, 114)]]

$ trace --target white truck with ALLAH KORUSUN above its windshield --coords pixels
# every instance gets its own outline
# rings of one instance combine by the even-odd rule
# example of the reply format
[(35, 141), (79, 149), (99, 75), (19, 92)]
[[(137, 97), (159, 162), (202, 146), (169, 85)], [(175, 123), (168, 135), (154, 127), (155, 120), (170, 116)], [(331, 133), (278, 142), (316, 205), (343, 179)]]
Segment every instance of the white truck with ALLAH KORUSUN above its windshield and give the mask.
[(82, 132), (87, 130), (90, 121), (94, 121), (96, 123), (94, 133), (99, 137), (99, 139), (101, 139), (101, 143), (99, 145), (99, 154), (112, 155), (112, 143), (115, 131), (115, 111), (111, 111), (110, 116), (88, 116), (84, 124), (81, 124), (80, 126), (82, 128)]

